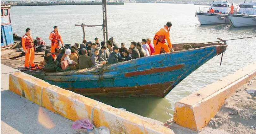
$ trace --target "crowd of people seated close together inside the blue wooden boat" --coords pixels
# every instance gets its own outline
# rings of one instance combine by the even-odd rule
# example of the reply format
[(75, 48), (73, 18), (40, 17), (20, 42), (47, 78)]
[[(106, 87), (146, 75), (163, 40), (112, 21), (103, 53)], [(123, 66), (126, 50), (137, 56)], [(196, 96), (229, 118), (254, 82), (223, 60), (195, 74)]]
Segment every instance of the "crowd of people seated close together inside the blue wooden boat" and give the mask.
[(150, 39), (142, 39), (141, 42), (131, 42), (131, 47), (127, 49), (125, 43), (121, 43), (121, 48), (114, 42), (113, 37), (105, 42), (99, 43), (95, 38), (95, 43), (83, 40), (82, 44), (65, 44), (61, 48), (55, 49), (56, 60), (50, 51), (45, 51), (43, 64), (46, 72), (61, 70), (76, 70), (89, 67), (98, 67), (104, 64), (114, 64), (144, 56), (150, 56), (155, 52), (154, 45)]

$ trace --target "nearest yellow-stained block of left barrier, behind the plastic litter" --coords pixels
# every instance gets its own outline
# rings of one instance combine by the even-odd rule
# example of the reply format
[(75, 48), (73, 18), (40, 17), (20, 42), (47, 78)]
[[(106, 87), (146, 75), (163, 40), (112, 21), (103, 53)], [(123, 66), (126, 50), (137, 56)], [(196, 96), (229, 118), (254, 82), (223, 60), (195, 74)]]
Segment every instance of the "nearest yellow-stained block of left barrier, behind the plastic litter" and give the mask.
[(97, 105), (94, 107), (93, 122), (96, 127), (107, 126), (110, 128), (111, 133), (174, 133), (171, 129), (161, 125), (160, 122), (146, 121), (139, 115), (108, 105)]

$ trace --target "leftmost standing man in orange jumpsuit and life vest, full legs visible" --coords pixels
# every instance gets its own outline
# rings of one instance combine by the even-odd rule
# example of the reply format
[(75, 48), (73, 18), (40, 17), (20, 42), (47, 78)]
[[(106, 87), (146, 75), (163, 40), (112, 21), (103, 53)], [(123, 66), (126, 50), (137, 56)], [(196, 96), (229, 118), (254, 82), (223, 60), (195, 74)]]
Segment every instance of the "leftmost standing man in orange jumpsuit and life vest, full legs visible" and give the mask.
[(21, 38), (22, 48), (25, 51), (25, 69), (29, 67), (29, 63), (31, 68), (35, 67), (34, 58), (35, 58), (35, 48), (32, 36), (30, 35), (31, 29), (26, 29), (26, 34)]

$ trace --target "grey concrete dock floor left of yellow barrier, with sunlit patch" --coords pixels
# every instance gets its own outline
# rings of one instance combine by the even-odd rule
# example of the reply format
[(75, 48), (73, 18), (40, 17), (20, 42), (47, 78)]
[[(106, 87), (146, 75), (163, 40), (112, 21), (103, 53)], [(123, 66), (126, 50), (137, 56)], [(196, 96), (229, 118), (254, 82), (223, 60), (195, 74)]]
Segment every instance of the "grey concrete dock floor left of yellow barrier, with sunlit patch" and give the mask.
[(1, 133), (76, 133), (73, 121), (9, 90), (9, 74), (20, 72), (1, 64)]

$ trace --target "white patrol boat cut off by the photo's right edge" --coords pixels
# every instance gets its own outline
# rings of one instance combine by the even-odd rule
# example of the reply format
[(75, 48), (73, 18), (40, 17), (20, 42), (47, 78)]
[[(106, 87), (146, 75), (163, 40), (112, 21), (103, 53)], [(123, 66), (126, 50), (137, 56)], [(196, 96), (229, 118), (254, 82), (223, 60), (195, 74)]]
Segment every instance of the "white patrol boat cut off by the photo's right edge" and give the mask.
[(256, 26), (256, 3), (242, 3), (239, 12), (228, 17), (235, 27)]

